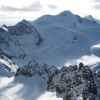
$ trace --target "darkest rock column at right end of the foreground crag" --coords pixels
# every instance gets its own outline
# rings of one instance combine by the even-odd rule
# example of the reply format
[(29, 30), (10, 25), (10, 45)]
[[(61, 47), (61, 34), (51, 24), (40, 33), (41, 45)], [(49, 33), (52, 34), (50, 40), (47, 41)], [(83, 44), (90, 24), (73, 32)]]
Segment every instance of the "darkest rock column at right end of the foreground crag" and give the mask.
[(86, 88), (83, 91), (83, 99), (85, 100), (88, 97), (89, 100), (95, 100), (97, 96), (97, 88), (94, 82), (93, 73), (88, 66), (83, 68), (83, 77), (87, 82)]

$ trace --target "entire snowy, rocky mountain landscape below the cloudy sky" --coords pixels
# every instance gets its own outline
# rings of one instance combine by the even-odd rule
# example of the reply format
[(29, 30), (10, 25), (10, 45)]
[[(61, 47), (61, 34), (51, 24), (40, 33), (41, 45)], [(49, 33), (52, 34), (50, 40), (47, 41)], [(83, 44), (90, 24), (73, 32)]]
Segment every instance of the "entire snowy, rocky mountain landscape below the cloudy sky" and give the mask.
[[(0, 97), (99, 100), (99, 49), (100, 23), (91, 16), (81, 18), (64, 11), (35, 21), (24, 19), (15, 26), (3, 25)], [(80, 70), (80, 62), (87, 66)]]

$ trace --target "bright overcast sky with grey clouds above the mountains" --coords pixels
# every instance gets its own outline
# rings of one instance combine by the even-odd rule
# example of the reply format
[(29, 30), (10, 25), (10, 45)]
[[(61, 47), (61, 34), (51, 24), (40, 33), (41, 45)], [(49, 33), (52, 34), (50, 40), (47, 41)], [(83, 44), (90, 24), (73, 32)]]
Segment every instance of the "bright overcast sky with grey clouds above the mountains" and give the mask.
[(13, 25), (22, 19), (35, 20), (65, 10), (100, 20), (100, 0), (0, 0), (0, 25)]

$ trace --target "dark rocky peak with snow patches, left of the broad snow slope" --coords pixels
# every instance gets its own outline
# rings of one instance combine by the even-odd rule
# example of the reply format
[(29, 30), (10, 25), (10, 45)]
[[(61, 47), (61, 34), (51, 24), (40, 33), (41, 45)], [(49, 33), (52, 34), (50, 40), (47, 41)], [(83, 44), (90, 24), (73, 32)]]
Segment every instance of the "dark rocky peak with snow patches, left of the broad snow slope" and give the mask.
[(0, 55), (10, 59), (24, 59), (27, 55), (25, 47), (38, 46), (41, 42), (42, 38), (37, 29), (26, 20), (15, 26), (3, 25), (0, 28)]

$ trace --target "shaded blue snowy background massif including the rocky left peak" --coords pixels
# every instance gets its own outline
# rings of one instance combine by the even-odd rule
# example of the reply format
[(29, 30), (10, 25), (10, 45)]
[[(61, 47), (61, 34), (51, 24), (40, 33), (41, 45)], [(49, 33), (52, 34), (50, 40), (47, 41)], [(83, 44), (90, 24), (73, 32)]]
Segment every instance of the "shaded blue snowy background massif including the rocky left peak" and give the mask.
[(94, 54), (91, 47), (100, 43), (100, 24), (70, 11), (33, 22), (22, 20), (15, 26), (3, 25), (0, 30), (1, 53), (19, 66), (35, 59), (60, 67), (70, 59)]

